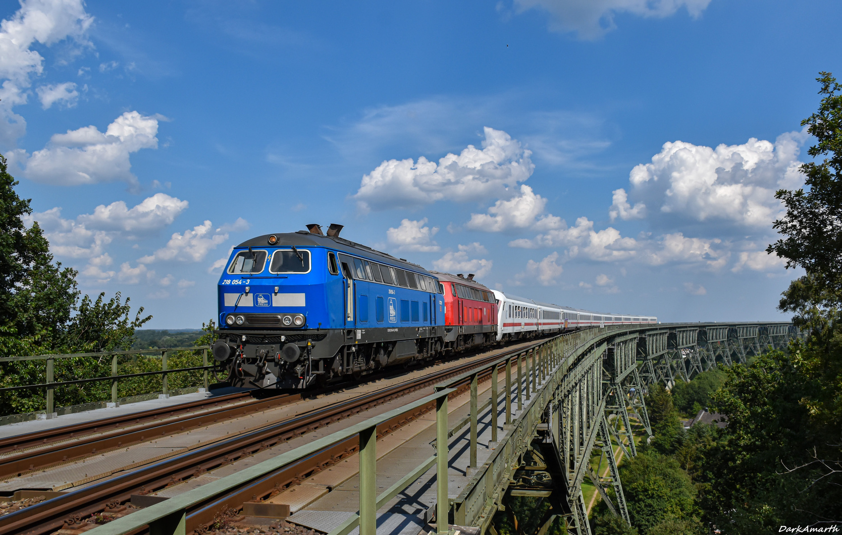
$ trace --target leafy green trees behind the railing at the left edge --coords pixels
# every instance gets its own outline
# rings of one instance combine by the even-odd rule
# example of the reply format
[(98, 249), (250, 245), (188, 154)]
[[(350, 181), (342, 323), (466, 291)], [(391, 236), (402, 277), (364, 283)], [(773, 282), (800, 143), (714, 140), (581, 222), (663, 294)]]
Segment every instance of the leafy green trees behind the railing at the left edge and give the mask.
[[(50, 243), (38, 222), (27, 226), (30, 199), (21, 199), (0, 155), (0, 356), (88, 353), (128, 350), (135, 329), (152, 316), (131, 318), (129, 299), (118, 292), (94, 301), (79, 299), (77, 271), (62, 268), (50, 254)], [(104, 377), (109, 359), (87, 357), (56, 361), (56, 381)], [(43, 383), (44, 361), (0, 363), (0, 386)], [(79, 404), (103, 399), (110, 385), (81, 383), (56, 391), (57, 403)], [(44, 392), (25, 389), (0, 394), (0, 414), (43, 409)]]

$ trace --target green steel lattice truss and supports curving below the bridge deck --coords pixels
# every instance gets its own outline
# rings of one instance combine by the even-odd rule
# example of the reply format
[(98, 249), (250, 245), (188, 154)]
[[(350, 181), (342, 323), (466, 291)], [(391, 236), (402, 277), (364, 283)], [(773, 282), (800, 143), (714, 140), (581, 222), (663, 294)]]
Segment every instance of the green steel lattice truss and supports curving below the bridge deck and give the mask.
[(548, 340), (525, 355), (534, 363), (531, 388), (529, 377), (525, 385), (527, 399), (530, 389), (533, 399), (506, 425), (492, 456), (454, 500), (454, 522), (487, 532), (510, 496), (531, 495), (552, 506), (539, 535), (556, 516), (566, 517), (568, 532), (589, 535), (586, 479), (610, 511), (629, 522), (616, 455), (637, 455), (632, 420), (652, 435), (643, 399), (647, 387), (689, 381), (717, 363), (746, 363), (801, 336), (788, 323), (658, 324), (585, 329)]

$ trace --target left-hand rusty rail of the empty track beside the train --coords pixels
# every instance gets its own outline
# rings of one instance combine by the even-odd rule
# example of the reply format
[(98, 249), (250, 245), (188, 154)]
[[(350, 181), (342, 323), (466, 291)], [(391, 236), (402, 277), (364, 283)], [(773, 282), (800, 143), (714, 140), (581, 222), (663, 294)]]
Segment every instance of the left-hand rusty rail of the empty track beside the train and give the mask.
[[(137, 468), (114, 478), (104, 479), (99, 483), (68, 492), (65, 495), (42, 501), (33, 506), (9, 513), (8, 515), (0, 516), (0, 535), (46, 535), (47, 533), (60, 529), (64, 523), (64, 519), (68, 516), (90, 516), (103, 511), (109, 503), (113, 503), (114, 501), (125, 502), (131, 499), (131, 495), (140, 493), (148, 494), (160, 490), (169, 484), (198, 476), (210, 469), (232, 463), (241, 457), (250, 456), (267, 447), (273, 447), (282, 441), (288, 441), (296, 436), (301, 436), (307, 431), (315, 431), (324, 425), (342, 420), (351, 415), (356, 415), (378, 404), (383, 404), (392, 399), (397, 399), (408, 393), (415, 392), (418, 389), (432, 386), (448, 377), (458, 376), (472, 367), (485, 366), (488, 362), (495, 361), (501, 358), (501, 356), (527, 351), (537, 345), (541, 345), (541, 343), (543, 343), (543, 340), (514, 350), (495, 351), (492, 355), (477, 359), (476, 361), (465, 362), (446, 370), (419, 377), (418, 379), (381, 388), (375, 392), (362, 394), (339, 404), (333, 404), (321, 409), (313, 409), (302, 415), (296, 415), (293, 418), (268, 425), (262, 429), (250, 431), (244, 435), (235, 436), (205, 447), (196, 448), (191, 452), (185, 452), (175, 457)], [(465, 385), (451, 395), (461, 393), (467, 388), (468, 386)], [(409, 420), (411, 419), (403, 418), (402, 422), (406, 423)], [(397, 429), (399, 425), (399, 423), (389, 423), (390, 429), (388, 431)], [(354, 439), (350, 440), (353, 441)], [(346, 447), (348, 446), (353, 448), (352, 445), (345, 444), (341, 449), (346, 451)], [(332, 448), (336, 449), (337, 452), (340, 449), (338, 446), (333, 446)], [(302, 459), (302, 463), (306, 462), (309, 464), (299, 466), (299, 470), (293, 479), (303, 479), (300, 478), (301, 474), (312, 472), (313, 469), (321, 467), (325, 462), (325, 458), (329, 459), (328, 462), (338, 461), (338, 458), (342, 458), (342, 455), (339, 453), (337, 456), (337, 452), (333, 452), (333, 450), (331, 452), (317, 452), (311, 457), (308, 457), (309, 461)], [(309, 468), (309, 470), (302, 472), (301, 470), (305, 468)], [(296, 483), (296, 481), (290, 480), (290, 483)], [(243, 492), (252, 492), (252, 494), (255, 494), (251, 489), (243, 490)], [(237, 499), (239, 499), (239, 495), (243, 493), (236, 494)], [(250, 498), (251, 495), (248, 495), (248, 497)], [(240, 504), (242, 504), (242, 501)], [(195, 517), (197, 521), (205, 520), (204, 517), (191, 517)]]

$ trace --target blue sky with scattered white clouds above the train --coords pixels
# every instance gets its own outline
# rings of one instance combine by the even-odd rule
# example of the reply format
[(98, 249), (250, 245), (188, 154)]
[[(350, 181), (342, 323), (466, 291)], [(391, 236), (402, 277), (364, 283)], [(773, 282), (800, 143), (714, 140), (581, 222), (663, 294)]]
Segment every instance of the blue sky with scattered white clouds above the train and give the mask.
[(4, 2), (0, 152), (83, 292), (216, 315), (232, 245), (306, 223), (664, 321), (780, 319), (842, 5)]

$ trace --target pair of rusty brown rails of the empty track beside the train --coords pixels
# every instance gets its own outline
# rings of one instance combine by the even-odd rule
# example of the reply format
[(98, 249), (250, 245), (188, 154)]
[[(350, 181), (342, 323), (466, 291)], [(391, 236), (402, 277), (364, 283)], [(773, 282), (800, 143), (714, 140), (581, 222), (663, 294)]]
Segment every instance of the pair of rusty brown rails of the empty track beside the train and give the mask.
[[(474, 367), (483, 366), (507, 354), (529, 350), (537, 343), (521, 346), (517, 349), (493, 351), (488, 356), (475, 361), (451, 366), (439, 372), (390, 387), (381, 388), (371, 393), (362, 394), (338, 404), (313, 409), (261, 429), (218, 441), (193, 451), (170, 457), (163, 461), (137, 468), (131, 472), (90, 484), (67, 494), (41, 501), (32, 506), (0, 516), (0, 535), (47, 535), (61, 528), (77, 530), (84, 528), (79, 522), (102, 511), (120, 509), (121, 504), (130, 501), (132, 495), (147, 495), (171, 484), (196, 477), (214, 468), (248, 457), (266, 448), (274, 447), (296, 436), (315, 431), (324, 425), (343, 420), (352, 415), (397, 399), (421, 388), (430, 387), (440, 381), (455, 377)], [(483, 378), (483, 377), (481, 377)], [(468, 384), (461, 386), (455, 394), (466, 390)], [(277, 402), (278, 398), (263, 400)], [(378, 436), (386, 434), (414, 420), (432, 407), (416, 410), (415, 414), (402, 415), (395, 421), (387, 421), (378, 426)], [(328, 447), (311, 457), (286, 466), (268, 478), (262, 478), (245, 485), (240, 490), (221, 498), (200, 504), (189, 511), (187, 532), (206, 528), (214, 522), (214, 517), (221, 511), (238, 510), (242, 503), (260, 500), (285, 490), (290, 485), (301, 482), (312, 473), (337, 463), (344, 457), (356, 452), (356, 438), (349, 439)], [(80, 531), (81, 533), (81, 531)], [(72, 532), (67, 532), (72, 535)]]

